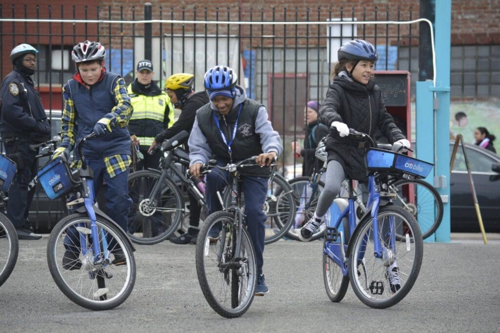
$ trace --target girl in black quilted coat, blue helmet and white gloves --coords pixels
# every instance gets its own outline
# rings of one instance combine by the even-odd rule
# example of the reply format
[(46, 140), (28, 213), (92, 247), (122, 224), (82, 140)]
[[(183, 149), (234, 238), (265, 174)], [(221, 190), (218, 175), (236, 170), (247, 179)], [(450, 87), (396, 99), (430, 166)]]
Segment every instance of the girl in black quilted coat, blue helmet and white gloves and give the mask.
[(314, 215), (300, 229), (302, 241), (309, 241), (323, 223), (323, 216), (340, 192), (346, 176), (360, 182), (367, 180), (364, 149), (357, 148), (347, 136), (349, 128), (370, 136), (378, 129), (390, 143), (399, 142), (410, 148), (409, 141), (385, 110), (381, 91), (373, 80), (376, 60), (375, 48), (365, 40), (351, 40), (338, 49), (335, 77), (319, 109), (319, 120), (330, 128), (326, 137), (328, 166), (325, 186)]

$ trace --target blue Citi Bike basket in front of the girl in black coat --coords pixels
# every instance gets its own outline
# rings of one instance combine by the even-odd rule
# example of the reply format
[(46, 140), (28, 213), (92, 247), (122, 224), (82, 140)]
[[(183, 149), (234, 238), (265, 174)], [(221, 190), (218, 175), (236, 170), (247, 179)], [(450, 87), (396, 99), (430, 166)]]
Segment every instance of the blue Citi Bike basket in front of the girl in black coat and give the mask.
[(370, 171), (406, 173), (416, 177), (425, 178), (428, 176), (434, 165), (432, 163), (388, 150), (372, 148), (368, 149), (366, 153), (366, 166)]

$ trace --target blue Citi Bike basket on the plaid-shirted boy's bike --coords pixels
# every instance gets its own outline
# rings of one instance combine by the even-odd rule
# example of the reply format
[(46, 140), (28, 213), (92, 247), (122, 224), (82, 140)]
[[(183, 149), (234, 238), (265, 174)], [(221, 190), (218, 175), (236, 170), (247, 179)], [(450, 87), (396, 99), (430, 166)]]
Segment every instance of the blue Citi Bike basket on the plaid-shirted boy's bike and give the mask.
[(71, 177), (67, 162), (59, 157), (50, 161), (38, 171), (38, 181), (47, 197), (51, 200), (61, 197), (78, 184)]

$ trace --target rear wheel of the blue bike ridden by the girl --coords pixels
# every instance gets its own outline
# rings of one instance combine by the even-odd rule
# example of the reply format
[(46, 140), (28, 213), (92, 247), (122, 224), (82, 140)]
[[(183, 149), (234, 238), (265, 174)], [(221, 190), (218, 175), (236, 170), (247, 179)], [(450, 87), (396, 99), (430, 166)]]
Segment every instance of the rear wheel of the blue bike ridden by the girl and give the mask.
[(324, 253), (326, 238), (323, 239), (323, 282), (326, 295), (331, 302), (340, 302), (349, 287), (349, 277), (342, 274), (342, 269)]

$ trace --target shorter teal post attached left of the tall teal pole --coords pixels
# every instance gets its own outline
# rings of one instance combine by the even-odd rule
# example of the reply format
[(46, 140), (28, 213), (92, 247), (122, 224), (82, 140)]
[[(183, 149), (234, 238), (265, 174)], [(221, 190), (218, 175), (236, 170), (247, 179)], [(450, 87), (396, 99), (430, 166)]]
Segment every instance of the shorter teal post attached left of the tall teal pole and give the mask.
[[(433, 110), (433, 99), (434, 93), (430, 91), (432, 87), (432, 80), (427, 81), (417, 81), (416, 82), (416, 98), (415, 98), (415, 136), (416, 136), (416, 146), (415, 155), (416, 158), (435, 163), (434, 161), (434, 110)], [(435, 167), (434, 167), (435, 169)], [(434, 183), (434, 169), (425, 179), (428, 183)], [(417, 189), (418, 190), (418, 189)], [(417, 193), (418, 197), (418, 193)], [(426, 203), (430, 207), (420, 207), (420, 209), (428, 212), (433, 209), (433, 204)], [(426, 242), (433, 242), (434, 236), (429, 236)]]

